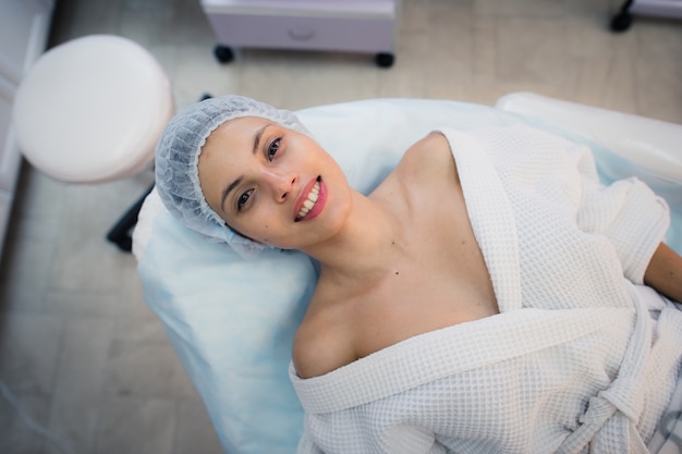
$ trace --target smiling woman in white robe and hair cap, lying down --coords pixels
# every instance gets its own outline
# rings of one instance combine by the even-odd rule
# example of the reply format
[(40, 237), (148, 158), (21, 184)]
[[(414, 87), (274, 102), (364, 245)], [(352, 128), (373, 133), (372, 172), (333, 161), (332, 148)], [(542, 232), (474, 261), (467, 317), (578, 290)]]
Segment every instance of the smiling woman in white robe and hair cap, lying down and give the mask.
[(291, 112), (232, 96), (176, 115), (156, 172), (169, 210), (212, 241), (319, 261), (293, 345), (301, 452), (651, 438), (678, 380), (663, 346), (682, 342), (682, 259), (661, 243), (665, 201), (636, 180), (601, 186), (584, 147), (434, 132), (365, 196)]

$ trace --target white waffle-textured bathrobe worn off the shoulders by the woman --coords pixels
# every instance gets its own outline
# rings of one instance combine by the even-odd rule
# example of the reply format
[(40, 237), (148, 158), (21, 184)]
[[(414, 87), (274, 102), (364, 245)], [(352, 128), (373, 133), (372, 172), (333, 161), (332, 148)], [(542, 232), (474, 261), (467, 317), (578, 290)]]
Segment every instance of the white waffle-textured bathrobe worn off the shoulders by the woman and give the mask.
[(682, 311), (643, 285), (669, 226), (588, 148), (442, 130), (500, 314), (291, 380), (300, 453), (646, 453), (678, 380)]

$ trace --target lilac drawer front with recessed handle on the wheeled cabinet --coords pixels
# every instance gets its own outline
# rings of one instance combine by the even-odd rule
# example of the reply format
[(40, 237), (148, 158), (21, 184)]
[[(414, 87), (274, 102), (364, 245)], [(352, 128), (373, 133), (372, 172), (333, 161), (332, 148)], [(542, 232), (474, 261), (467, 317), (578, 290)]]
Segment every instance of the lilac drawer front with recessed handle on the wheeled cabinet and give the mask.
[(390, 52), (391, 19), (208, 14), (220, 44), (235, 47)]

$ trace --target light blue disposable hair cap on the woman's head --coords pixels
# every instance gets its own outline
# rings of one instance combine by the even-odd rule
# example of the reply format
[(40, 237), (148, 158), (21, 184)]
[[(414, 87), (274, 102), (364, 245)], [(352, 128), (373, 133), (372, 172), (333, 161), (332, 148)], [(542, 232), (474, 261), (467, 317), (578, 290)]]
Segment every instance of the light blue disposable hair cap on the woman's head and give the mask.
[(214, 211), (199, 183), (202, 147), (218, 126), (243, 116), (258, 116), (309, 135), (296, 115), (243, 96), (222, 96), (196, 102), (166, 126), (156, 147), (156, 189), (172, 216), (214, 243), (227, 243), (244, 258), (254, 258), (267, 245), (234, 232)]

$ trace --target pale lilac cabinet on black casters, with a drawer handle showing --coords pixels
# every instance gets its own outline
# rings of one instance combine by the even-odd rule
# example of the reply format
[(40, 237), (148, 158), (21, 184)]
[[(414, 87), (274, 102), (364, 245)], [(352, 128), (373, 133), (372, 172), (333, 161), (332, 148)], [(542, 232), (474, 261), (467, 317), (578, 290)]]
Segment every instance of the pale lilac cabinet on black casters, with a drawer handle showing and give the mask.
[(218, 37), (231, 47), (368, 52), (393, 63), (399, 0), (202, 0)]

